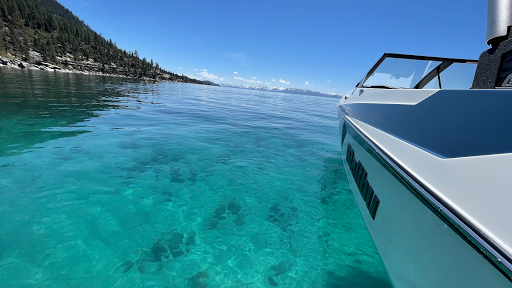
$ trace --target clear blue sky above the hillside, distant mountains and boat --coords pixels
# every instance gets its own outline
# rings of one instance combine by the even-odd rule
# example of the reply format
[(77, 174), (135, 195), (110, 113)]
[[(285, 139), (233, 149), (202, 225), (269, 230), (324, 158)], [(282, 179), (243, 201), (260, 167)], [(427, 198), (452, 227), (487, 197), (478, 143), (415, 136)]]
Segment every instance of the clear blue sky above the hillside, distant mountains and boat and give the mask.
[(58, 0), (118, 47), (238, 85), (344, 93), (385, 53), (474, 58), (486, 0)]

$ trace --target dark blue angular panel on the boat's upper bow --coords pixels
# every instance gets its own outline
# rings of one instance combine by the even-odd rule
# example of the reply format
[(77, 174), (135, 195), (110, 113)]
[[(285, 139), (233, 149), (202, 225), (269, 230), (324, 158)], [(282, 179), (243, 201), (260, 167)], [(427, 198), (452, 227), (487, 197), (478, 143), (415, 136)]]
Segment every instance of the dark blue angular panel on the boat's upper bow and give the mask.
[(510, 107), (512, 91), (505, 90), (441, 90), (416, 105), (339, 106), (345, 115), (443, 158), (512, 153)]

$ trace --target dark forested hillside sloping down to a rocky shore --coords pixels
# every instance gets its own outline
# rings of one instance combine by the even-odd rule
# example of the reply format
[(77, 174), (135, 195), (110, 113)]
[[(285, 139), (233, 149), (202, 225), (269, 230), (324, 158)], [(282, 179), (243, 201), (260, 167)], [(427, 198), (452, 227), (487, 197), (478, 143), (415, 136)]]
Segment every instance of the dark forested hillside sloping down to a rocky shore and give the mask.
[(0, 56), (84, 72), (205, 83), (118, 48), (55, 0), (0, 0)]

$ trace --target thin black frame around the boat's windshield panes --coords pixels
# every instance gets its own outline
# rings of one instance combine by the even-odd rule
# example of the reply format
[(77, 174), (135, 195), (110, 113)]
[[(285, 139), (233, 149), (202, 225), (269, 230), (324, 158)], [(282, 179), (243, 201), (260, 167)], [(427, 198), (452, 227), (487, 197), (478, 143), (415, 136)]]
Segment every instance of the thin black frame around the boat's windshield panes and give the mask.
[[(425, 60), (425, 61), (436, 61), (441, 62), (434, 69), (432, 69), (427, 75), (425, 75), (413, 88), (405, 88), (405, 87), (390, 87), (390, 86), (365, 86), (364, 84), (370, 78), (370, 76), (379, 68), (379, 66), (386, 60), (386, 58), (398, 58), (398, 59), (409, 59), (409, 60)], [(429, 56), (420, 56), (420, 55), (407, 55), (407, 54), (396, 54), (396, 53), (384, 53), (373, 65), (373, 67), (366, 73), (366, 76), (362, 81), (357, 83), (356, 88), (384, 88), (384, 89), (422, 89), (425, 85), (427, 85), (432, 79), (434, 79), (441, 72), (446, 70), (446, 68), (450, 67), (453, 63), (470, 63), (477, 64), (478, 60), (472, 59), (458, 59), (458, 58), (444, 58), (444, 57), (429, 57)]]

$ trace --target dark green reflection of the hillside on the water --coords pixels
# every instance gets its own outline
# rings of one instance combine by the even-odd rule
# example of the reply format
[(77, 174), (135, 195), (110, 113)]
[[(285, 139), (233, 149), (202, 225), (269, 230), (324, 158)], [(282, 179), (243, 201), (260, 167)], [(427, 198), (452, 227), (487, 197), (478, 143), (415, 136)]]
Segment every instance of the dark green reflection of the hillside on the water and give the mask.
[(77, 124), (99, 111), (126, 108), (118, 85), (130, 83), (134, 80), (0, 68), (0, 157), (89, 132)]

